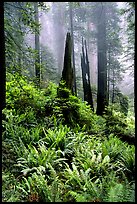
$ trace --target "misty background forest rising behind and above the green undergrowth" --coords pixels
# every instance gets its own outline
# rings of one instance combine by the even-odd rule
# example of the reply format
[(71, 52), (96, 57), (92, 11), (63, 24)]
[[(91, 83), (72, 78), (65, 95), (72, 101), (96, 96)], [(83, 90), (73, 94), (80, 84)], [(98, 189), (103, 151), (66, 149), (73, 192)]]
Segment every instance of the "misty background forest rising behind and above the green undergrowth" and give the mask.
[(49, 80), (58, 84), (69, 32), (75, 94), (88, 101), (81, 69), (84, 39), (85, 82), (97, 113), (120, 104), (122, 94), (134, 111), (134, 2), (5, 2), (4, 15), (7, 71), (40, 86)]

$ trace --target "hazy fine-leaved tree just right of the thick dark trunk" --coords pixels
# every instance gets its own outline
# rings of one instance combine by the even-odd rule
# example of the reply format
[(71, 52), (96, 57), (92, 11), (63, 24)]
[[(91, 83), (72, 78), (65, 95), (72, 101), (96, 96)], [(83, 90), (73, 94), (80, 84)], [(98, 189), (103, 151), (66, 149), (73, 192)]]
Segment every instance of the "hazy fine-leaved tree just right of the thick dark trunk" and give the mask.
[(123, 50), (120, 39), (120, 14), (116, 2), (107, 3), (106, 22), (108, 103), (111, 96), (113, 103), (116, 95), (115, 90), (122, 80), (121, 75), (124, 72), (119, 61)]

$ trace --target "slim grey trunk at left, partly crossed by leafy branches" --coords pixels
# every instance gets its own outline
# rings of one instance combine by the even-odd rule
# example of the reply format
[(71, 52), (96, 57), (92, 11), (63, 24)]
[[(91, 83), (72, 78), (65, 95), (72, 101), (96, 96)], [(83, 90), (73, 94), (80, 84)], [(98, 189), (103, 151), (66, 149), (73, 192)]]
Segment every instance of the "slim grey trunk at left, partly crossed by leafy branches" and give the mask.
[[(34, 2), (35, 10), (35, 22), (39, 23), (38, 17), (38, 2)], [(35, 50), (36, 50), (36, 59), (35, 59), (35, 73), (36, 73), (36, 85), (40, 86), (40, 44), (39, 44), (39, 33), (35, 31)]]

